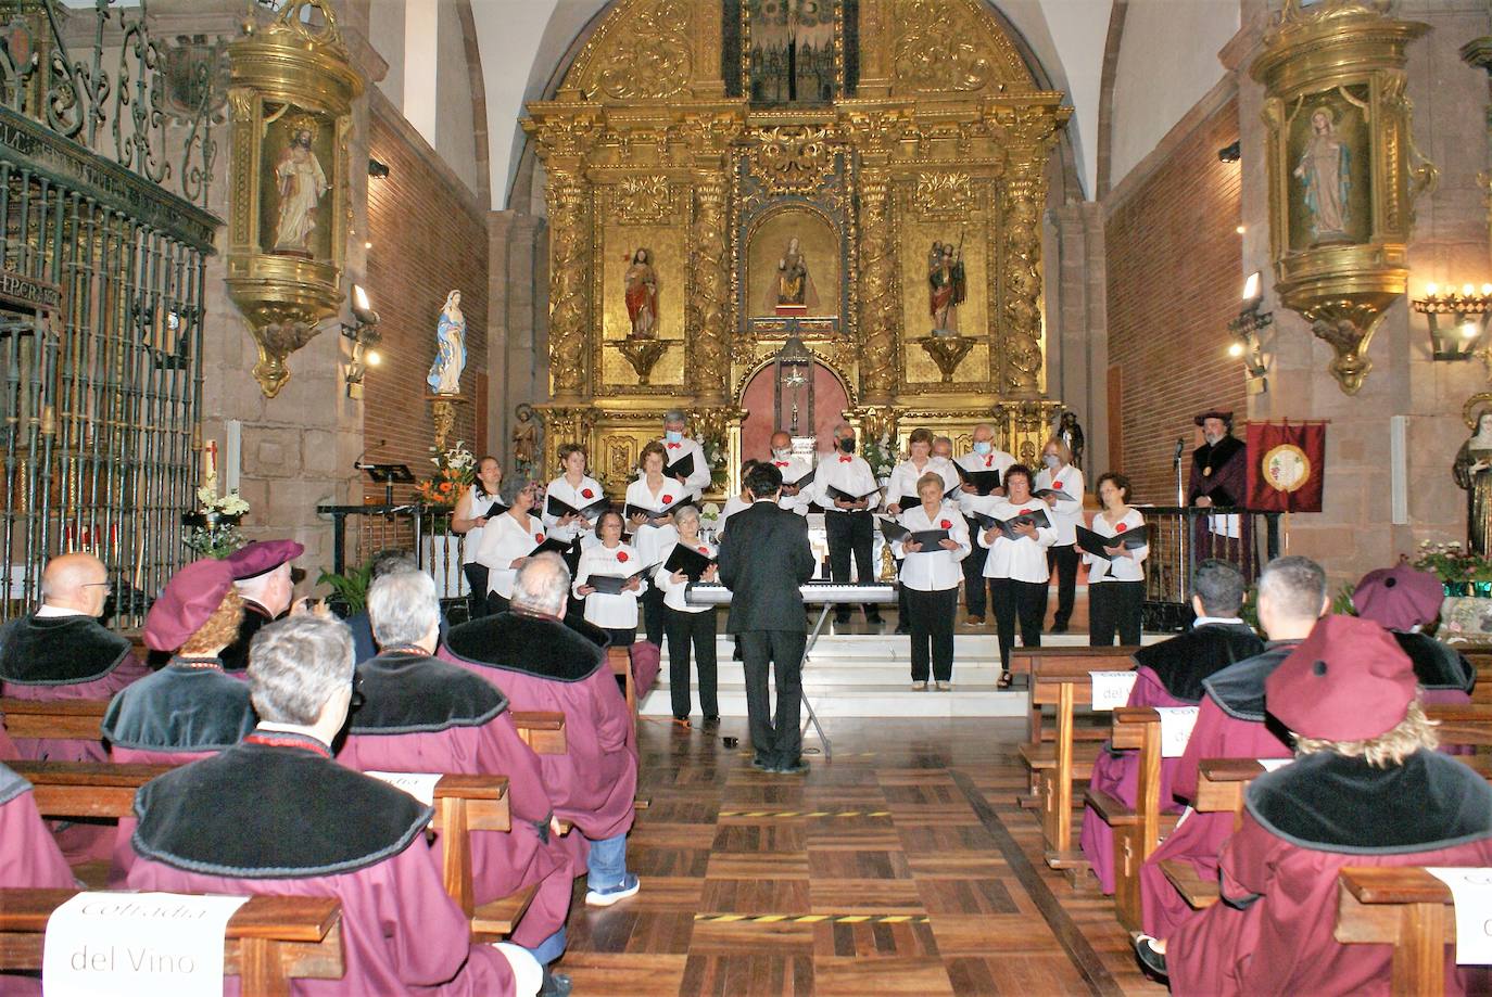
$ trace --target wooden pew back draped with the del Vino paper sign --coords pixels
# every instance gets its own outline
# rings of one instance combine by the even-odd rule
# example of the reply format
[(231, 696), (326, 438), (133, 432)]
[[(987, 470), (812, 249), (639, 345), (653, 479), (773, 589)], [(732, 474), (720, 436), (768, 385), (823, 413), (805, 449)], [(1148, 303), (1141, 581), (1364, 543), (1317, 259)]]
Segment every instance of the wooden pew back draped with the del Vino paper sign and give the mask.
[[(0, 890), (0, 970), (39, 972), (46, 920), (78, 890)], [(288, 997), (292, 979), (342, 979), (342, 905), (257, 896), (228, 920), (224, 973), (243, 997)]]

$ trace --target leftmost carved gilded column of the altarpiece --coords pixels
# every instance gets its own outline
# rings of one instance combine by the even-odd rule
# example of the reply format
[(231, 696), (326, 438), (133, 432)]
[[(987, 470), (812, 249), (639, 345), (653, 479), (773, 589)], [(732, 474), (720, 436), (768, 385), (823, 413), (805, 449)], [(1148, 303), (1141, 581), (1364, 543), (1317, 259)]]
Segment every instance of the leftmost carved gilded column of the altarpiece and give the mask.
[(591, 277), (589, 186), (576, 174), (551, 170), (549, 188), (549, 382), (557, 402), (589, 393), (585, 352)]

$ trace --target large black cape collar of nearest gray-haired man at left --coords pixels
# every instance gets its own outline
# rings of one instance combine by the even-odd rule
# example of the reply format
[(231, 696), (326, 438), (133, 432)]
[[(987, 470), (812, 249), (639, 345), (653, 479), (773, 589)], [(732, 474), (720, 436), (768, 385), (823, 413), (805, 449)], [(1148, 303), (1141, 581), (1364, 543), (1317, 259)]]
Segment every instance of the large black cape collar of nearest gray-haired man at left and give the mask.
[[(294, 735), (261, 732), (289, 742)], [(288, 744), (246, 742), (145, 784), (140, 855), (236, 879), (304, 879), (404, 851), (434, 811), (392, 785)]]

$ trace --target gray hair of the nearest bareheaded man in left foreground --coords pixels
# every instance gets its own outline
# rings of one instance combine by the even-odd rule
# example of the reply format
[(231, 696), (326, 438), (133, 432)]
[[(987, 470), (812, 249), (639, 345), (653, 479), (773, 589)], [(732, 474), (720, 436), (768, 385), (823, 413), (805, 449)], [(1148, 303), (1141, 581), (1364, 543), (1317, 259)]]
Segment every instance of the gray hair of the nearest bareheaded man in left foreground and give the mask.
[(309, 727), (352, 687), (352, 632), (342, 620), (292, 615), (249, 644), (249, 697), (261, 720)]

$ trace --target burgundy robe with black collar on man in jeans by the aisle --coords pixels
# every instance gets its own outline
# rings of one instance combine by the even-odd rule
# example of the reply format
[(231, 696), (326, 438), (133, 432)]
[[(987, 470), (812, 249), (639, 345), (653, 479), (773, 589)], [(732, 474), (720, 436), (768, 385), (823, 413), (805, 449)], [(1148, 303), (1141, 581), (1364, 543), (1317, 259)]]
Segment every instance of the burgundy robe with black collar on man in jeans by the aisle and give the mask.
[(565, 715), (565, 754), (539, 756), (555, 814), (591, 841), (625, 835), (637, 797), (637, 745), (604, 635), (560, 620), (500, 613), (452, 627), (442, 657), (507, 696), (513, 709)]

